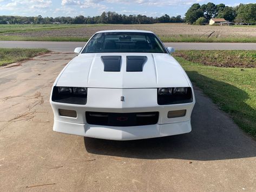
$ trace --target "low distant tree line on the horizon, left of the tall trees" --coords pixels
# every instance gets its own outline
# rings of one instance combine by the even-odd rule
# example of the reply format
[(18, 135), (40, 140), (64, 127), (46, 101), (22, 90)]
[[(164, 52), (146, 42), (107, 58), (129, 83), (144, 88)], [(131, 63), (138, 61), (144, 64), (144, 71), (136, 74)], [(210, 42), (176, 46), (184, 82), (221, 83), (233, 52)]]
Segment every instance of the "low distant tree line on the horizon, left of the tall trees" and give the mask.
[(121, 15), (116, 12), (103, 12), (100, 16), (84, 17), (23, 17), (23, 16), (0, 16), (0, 24), (152, 24), (152, 23), (182, 23), (184, 18), (180, 15), (170, 17), (165, 14), (161, 17), (148, 17), (146, 15)]

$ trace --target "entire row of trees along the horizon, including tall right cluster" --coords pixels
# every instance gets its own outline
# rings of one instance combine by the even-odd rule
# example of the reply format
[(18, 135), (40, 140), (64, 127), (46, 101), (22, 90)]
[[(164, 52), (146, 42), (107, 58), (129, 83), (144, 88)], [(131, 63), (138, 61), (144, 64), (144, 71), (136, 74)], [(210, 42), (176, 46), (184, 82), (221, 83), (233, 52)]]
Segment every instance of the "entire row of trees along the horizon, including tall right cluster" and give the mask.
[(152, 23), (182, 23), (206, 24), (211, 18), (225, 18), (229, 22), (256, 24), (256, 3), (226, 6), (225, 4), (207, 3), (193, 4), (186, 12), (185, 18), (180, 15), (170, 17), (165, 14), (161, 17), (146, 15), (121, 15), (116, 12), (103, 12), (100, 16), (84, 17), (23, 17), (0, 16), (0, 24), (152, 24)]

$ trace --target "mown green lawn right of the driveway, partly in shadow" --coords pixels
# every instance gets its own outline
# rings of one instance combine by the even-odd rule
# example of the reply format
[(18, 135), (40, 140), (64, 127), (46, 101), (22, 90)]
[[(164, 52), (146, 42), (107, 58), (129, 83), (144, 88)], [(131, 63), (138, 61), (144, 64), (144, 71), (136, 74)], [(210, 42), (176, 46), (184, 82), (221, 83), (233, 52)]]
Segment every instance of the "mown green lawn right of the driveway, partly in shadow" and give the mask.
[[(240, 52), (246, 54), (247, 51)], [(204, 51), (198, 53), (198, 57), (207, 59)], [(175, 58), (196, 86), (227, 112), (242, 130), (256, 138), (256, 68), (215, 67)]]

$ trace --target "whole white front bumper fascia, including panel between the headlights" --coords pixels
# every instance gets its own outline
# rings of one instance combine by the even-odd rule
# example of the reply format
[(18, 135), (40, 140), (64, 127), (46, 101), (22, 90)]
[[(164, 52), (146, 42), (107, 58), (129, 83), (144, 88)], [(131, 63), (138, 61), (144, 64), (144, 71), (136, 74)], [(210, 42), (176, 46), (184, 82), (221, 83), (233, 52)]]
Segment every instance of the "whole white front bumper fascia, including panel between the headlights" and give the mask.
[[(124, 96), (125, 100), (120, 101)], [(194, 98), (194, 92), (193, 92)], [(54, 131), (108, 140), (137, 140), (185, 134), (191, 131), (192, 103), (159, 105), (156, 89), (100, 89), (88, 88), (86, 105), (57, 103), (50, 100), (54, 111)], [(76, 118), (60, 116), (58, 109), (75, 110)], [(182, 117), (168, 118), (168, 111), (186, 109)], [(134, 127), (93, 125), (86, 121), (86, 111), (95, 112), (159, 112), (156, 124)]]

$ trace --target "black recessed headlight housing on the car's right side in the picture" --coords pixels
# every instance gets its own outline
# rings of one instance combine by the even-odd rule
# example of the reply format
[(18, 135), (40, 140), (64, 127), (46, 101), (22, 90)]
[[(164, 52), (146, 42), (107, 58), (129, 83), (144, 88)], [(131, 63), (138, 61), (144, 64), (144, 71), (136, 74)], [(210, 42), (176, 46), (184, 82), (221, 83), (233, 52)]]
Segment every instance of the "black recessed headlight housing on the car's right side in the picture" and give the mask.
[(172, 94), (170, 95), (160, 95), (159, 89), (157, 89), (157, 103), (159, 105), (169, 105), (169, 104), (180, 104), (180, 103), (191, 103), (193, 102), (193, 94), (191, 87), (186, 87), (185, 92), (175, 91), (176, 88), (172, 89)]

